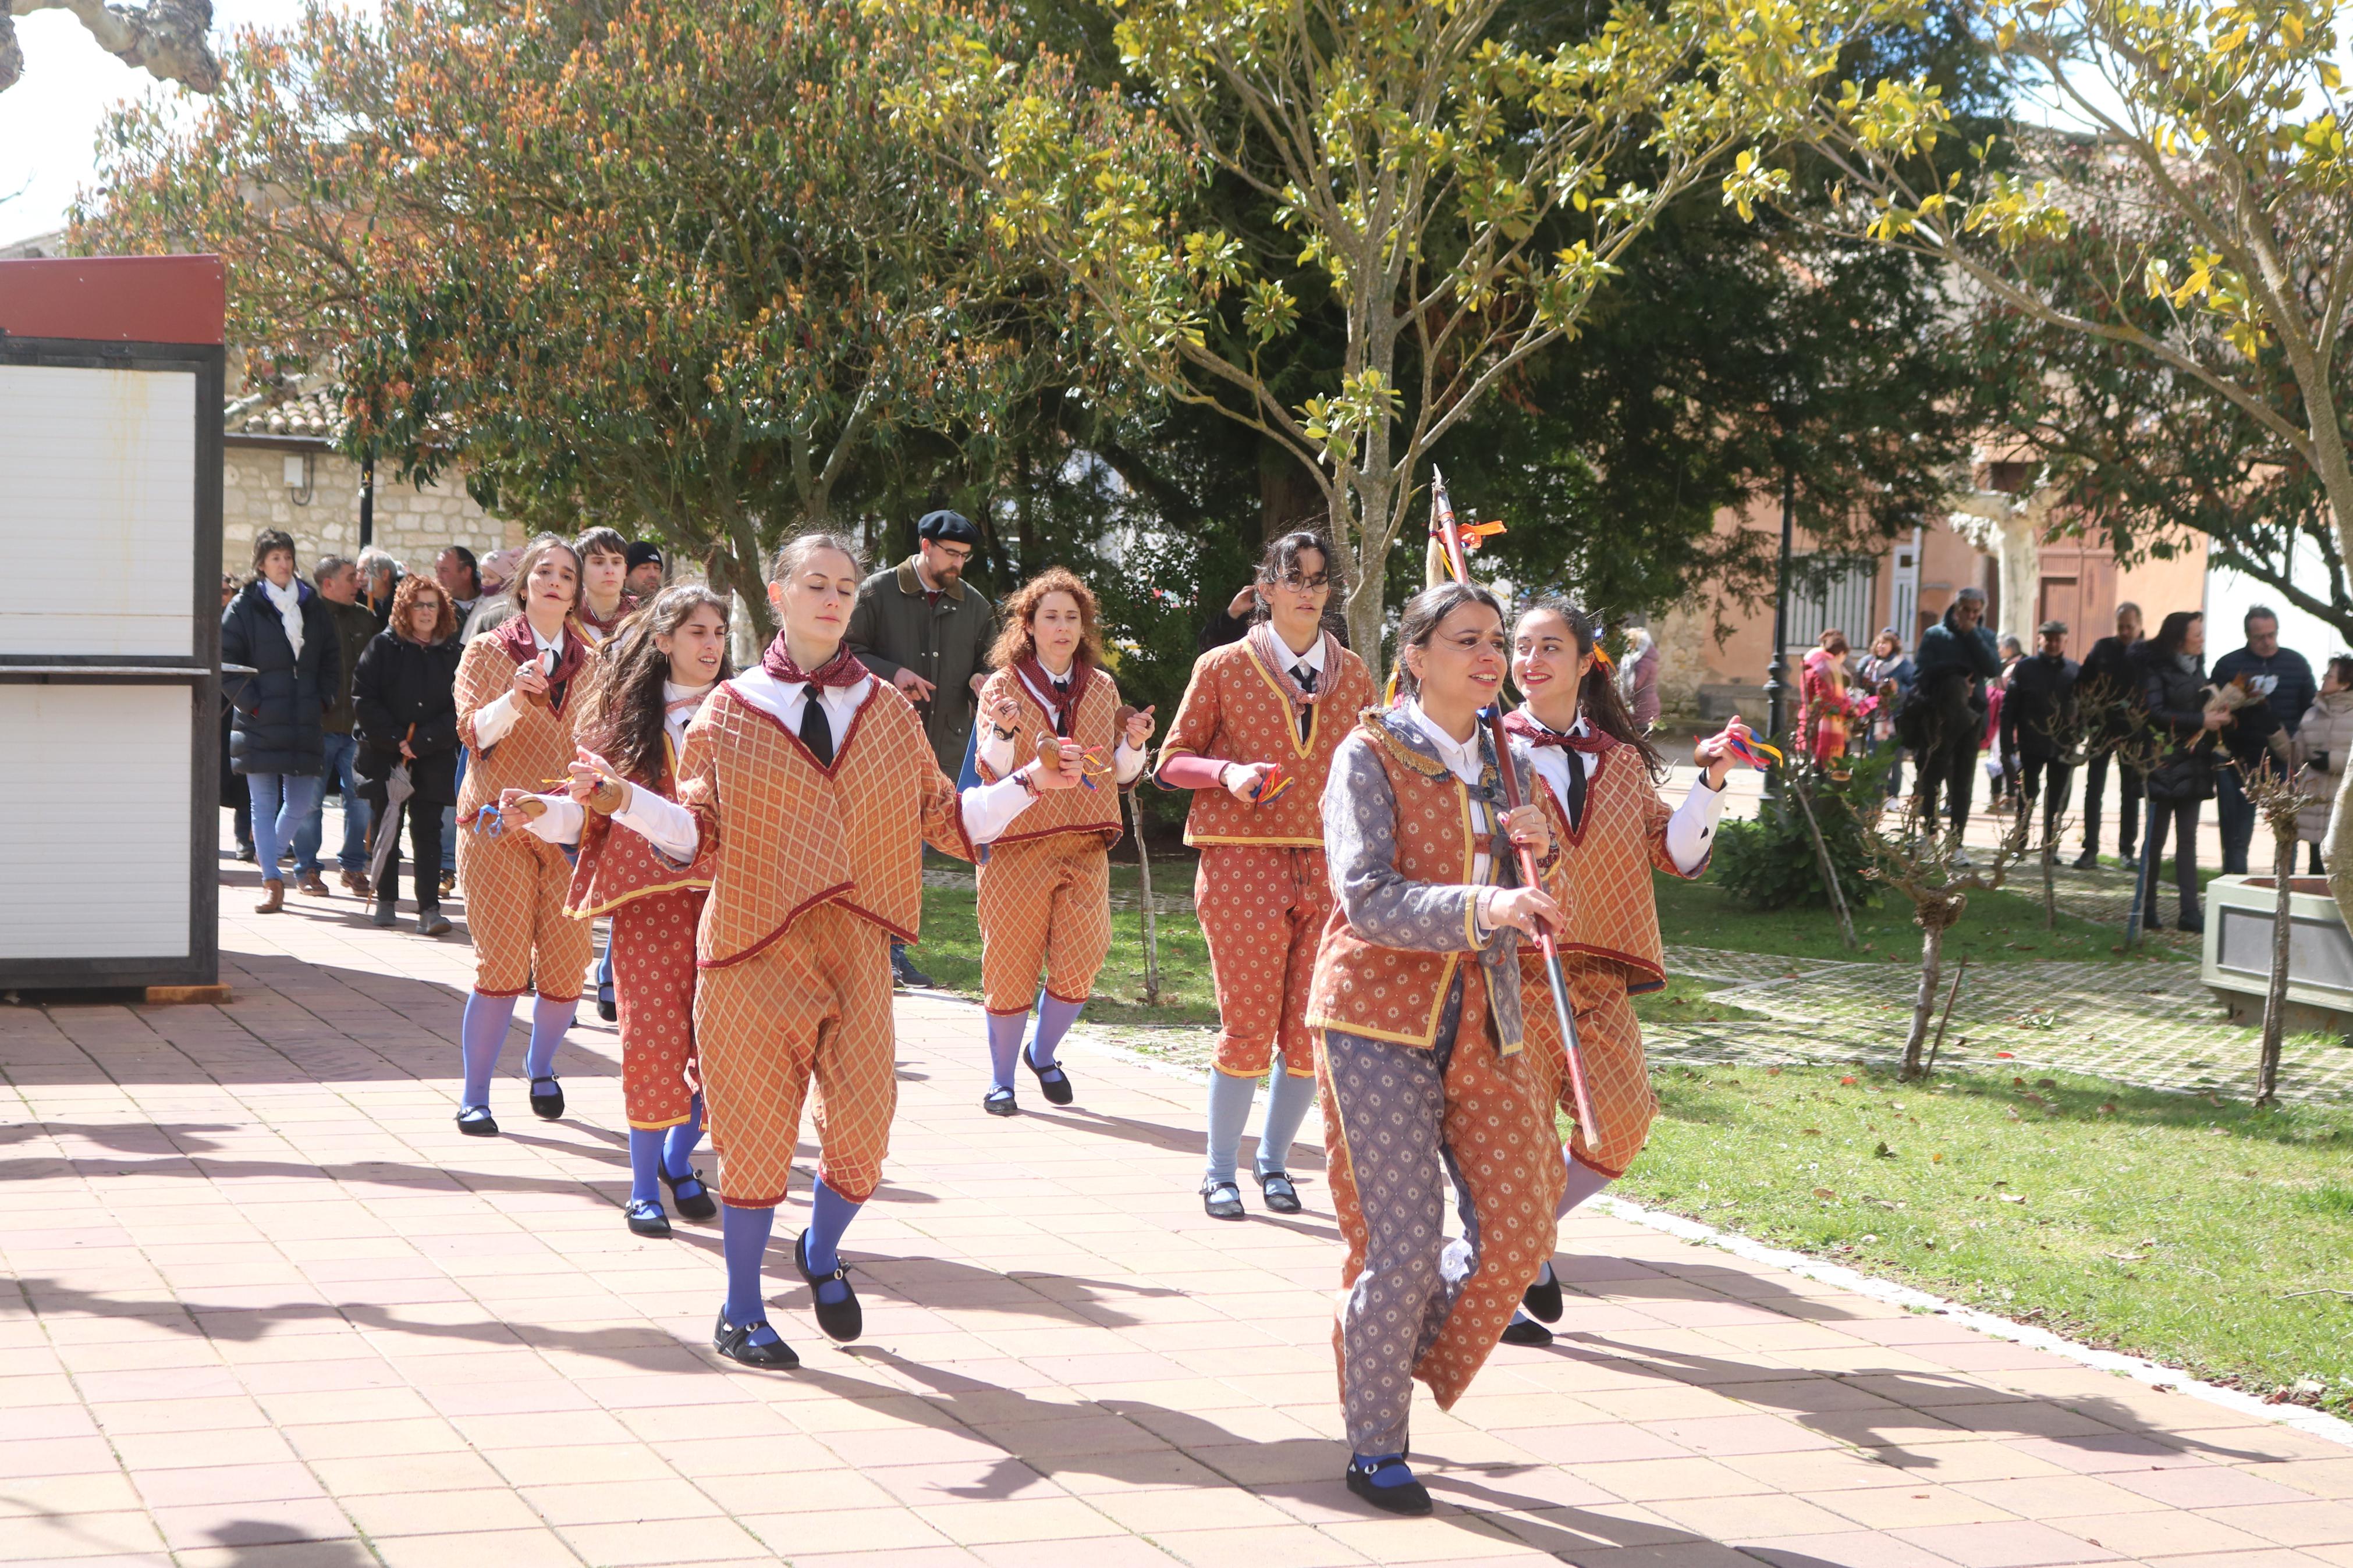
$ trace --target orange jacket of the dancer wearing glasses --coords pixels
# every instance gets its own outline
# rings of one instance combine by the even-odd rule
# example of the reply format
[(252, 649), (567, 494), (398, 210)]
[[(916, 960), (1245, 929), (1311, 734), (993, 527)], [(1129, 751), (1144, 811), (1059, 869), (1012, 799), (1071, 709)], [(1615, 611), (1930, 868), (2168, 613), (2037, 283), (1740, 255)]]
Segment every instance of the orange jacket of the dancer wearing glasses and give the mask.
[(1374, 686), (1365, 661), (1332, 646), (1325, 661), (1329, 696), (1313, 703), (1308, 736), (1299, 738), (1292, 698), (1273, 670), (1249, 646), (1249, 637), (1209, 649), (1193, 661), (1193, 682), (1169, 719), (1160, 762), (1212, 757), (1217, 762), (1280, 762), (1292, 788), (1252, 806), (1226, 790), (1193, 790), (1184, 820), (1186, 844), (1259, 844), (1268, 849), (1315, 849), (1322, 844), (1322, 795), (1332, 757), (1355, 729), (1355, 715), (1372, 705)]

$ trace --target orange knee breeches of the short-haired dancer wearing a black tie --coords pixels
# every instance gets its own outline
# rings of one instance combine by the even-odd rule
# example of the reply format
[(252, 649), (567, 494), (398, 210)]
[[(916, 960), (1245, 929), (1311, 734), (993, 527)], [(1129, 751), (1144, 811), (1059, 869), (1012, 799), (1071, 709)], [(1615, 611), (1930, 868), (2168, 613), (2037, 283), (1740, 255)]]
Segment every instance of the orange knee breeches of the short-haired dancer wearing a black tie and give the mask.
[(873, 1197), (899, 1110), (882, 926), (826, 903), (748, 959), (704, 969), (694, 1044), (727, 1204), (784, 1201), (812, 1081), (816, 1175), (852, 1204)]

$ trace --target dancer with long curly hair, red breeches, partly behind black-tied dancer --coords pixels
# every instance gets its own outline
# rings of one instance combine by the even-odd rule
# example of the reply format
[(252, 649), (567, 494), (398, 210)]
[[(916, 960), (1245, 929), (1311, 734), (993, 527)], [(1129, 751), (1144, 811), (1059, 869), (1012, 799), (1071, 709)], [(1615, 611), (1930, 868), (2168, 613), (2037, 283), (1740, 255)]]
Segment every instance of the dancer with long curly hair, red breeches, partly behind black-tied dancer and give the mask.
[[(666, 588), (605, 649), (605, 677), (581, 710), (586, 750), (612, 759), (633, 788), (678, 799), (678, 748), (727, 665), (727, 599), (706, 588)], [(621, 1105), (628, 1114), (628, 1229), (668, 1237), (668, 1182), (678, 1213), (711, 1220), (718, 1204), (694, 1171), (704, 1095), (694, 1067), (694, 929), (711, 893), (711, 856), (678, 870), (635, 832), (614, 832), (621, 783), (602, 811), (569, 795), (508, 790), (506, 811), (529, 818), (551, 844), (579, 844), (565, 912), (612, 914), (607, 954), (621, 1023)]]

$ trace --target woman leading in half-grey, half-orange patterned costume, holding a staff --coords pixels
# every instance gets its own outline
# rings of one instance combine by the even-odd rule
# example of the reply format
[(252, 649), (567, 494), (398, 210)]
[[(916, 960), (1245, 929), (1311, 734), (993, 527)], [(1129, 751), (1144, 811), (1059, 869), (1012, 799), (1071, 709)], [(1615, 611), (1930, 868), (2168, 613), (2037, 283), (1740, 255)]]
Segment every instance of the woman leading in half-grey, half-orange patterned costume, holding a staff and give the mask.
[[(1504, 686), (1504, 607), (1473, 583), (1414, 595), (1398, 625), (1400, 703), (1365, 712), (1332, 759), (1325, 853), (1337, 907), (1308, 1027), (1332, 1206), (1348, 1241), (1334, 1345), (1348, 1490), (1428, 1514), (1405, 1462), (1414, 1378), (1452, 1406), (1553, 1248), (1553, 1107), (1520, 1051), (1520, 933), (1558, 922), (1558, 811), (1504, 811), (1478, 710)], [(1527, 795), (1525, 795), (1527, 799)], [(1518, 886), (1513, 844), (1546, 886)], [(1464, 1237), (1445, 1234), (1445, 1168)]]

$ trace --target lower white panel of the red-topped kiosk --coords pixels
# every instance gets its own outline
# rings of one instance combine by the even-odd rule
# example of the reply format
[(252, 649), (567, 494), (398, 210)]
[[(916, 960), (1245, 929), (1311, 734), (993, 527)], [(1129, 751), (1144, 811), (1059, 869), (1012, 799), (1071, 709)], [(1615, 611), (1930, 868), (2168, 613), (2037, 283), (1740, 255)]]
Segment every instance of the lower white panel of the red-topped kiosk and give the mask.
[(188, 952), (188, 701), (0, 684), (0, 954)]

